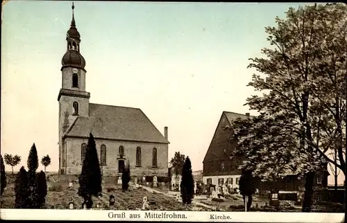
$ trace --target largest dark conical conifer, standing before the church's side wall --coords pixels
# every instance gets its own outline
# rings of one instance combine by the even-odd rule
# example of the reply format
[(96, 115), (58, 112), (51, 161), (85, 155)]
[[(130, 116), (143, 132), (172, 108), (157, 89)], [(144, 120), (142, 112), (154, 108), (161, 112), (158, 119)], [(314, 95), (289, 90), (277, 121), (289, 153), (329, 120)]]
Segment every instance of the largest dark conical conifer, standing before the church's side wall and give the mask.
[(87, 202), (87, 208), (92, 208), (92, 196), (101, 194), (101, 171), (96, 152), (96, 145), (92, 133), (87, 143), (85, 159), (83, 161), (81, 175), (78, 178), (80, 187), (78, 195)]

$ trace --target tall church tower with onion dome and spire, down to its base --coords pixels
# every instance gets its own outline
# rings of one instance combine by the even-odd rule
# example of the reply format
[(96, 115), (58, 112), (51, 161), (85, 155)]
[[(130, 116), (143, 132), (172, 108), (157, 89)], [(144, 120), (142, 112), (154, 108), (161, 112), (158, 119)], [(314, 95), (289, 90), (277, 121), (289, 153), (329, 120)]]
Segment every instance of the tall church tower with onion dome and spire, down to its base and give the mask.
[(59, 172), (66, 172), (66, 144), (63, 139), (78, 116), (89, 116), (90, 93), (85, 91), (85, 59), (81, 55), (81, 35), (76, 28), (74, 3), (72, 20), (67, 30), (67, 51), (62, 57), (62, 88), (59, 102)]

